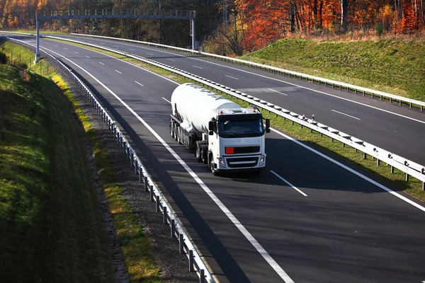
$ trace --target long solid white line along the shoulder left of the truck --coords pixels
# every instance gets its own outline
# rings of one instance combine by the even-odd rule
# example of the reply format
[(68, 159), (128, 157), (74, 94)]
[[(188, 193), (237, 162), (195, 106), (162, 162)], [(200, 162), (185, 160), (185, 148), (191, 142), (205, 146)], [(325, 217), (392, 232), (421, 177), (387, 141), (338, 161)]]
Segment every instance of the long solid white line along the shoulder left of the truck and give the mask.
[(103, 88), (105, 88), (109, 93), (111, 93), (118, 101), (120, 101), (121, 104), (124, 105), (125, 108), (127, 108), (130, 112), (132, 112), (132, 115), (135, 115), (135, 117), (137, 117), (137, 120), (139, 120), (140, 122), (142, 122), (143, 125), (145, 125), (145, 127), (147, 127), (147, 129), (149, 129), (149, 132), (151, 132), (154, 137), (156, 137), (159, 142), (169, 151), (169, 153), (174, 156), (174, 158), (176, 158), (177, 161), (179, 161), (179, 163), (181, 164), (181, 166), (183, 166), (183, 168), (186, 169), (186, 171), (189, 173), (189, 175), (191, 175), (191, 177), (196, 180), (196, 183), (198, 183), (198, 185), (200, 185), (200, 187), (203, 188), (203, 190), (207, 193), (207, 195), (215, 202), (215, 204), (217, 204), (218, 207), (220, 207), (220, 209), (222, 210), (222, 212), (225, 213), (225, 215), (230, 219), (230, 221), (232, 221), (232, 223), (234, 224), (234, 226), (237, 227), (237, 229), (239, 229), (239, 231), (241, 231), (241, 233), (245, 236), (245, 238), (249, 241), (249, 243), (251, 243), (252, 246), (254, 246), (254, 248), (259, 252), (259, 254), (264, 258), (264, 260), (266, 260), (266, 262), (268, 262), (268, 264), (273, 268), (273, 270), (276, 271), (276, 273), (278, 273), (278, 275), (280, 276), (280, 278), (283, 279), (283, 281), (285, 281), (285, 283), (294, 283), (293, 279), (290, 279), (289, 275), (286, 274), (286, 272), (282, 269), (282, 267), (280, 267), (280, 265), (278, 265), (278, 263), (273, 260), (273, 258), (271, 257), (271, 255), (269, 255), (267, 253), (267, 251), (260, 245), (260, 243), (258, 241), (256, 241), (256, 239), (254, 238), (254, 236), (251, 235), (251, 233), (249, 233), (248, 230), (246, 230), (246, 228), (239, 222), (239, 220), (232, 214), (232, 212), (229, 211), (229, 209), (227, 209), (227, 207), (225, 206), (225, 204), (223, 204), (217, 196), (215, 196), (215, 194), (210, 190), (210, 188), (205, 185), (205, 183), (203, 183), (203, 180), (200, 180), (200, 178), (198, 177), (198, 175), (196, 175), (195, 172), (192, 171), (192, 169), (183, 161), (183, 159), (176, 154), (176, 152), (171, 149), (171, 146), (169, 146), (168, 144), (166, 144), (166, 142), (164, 141), (164, 139), (162, 139), (162, 137), (159, 137), (159, 134), (157, 134), (157, 132), (154, 131), (154, 129), (152, 129), (152, 127), (150, 127), (147, 122), (145, 122), (145, 120), (142, 119), (142, 117), (140, 117), (139, 115), (137, 115), (137, 113), (132, 110), (132, 108), (130, 108), (130, 106), (127, 105), (127, 103), (125, 103), (119, 96), (117, 96), (115, 93), (113, 93), (113, 91), (111, 91), (111, 89), (109, 89), (107, 86), (105, 86), (101, 81), (99, 81), (95, 76), (93, 76), (92, 74), (89, 73), (89, 71), (86, 71), (85, 69), (83, 69), (81, 66), (79, 66), (78, 64), (72, 62), (72, 60), (63, 57), (61, 54), (58, 54), (57, 52), (54, 52), (52, 50), (48, 50), (47, 48), (43, 48), (49, 52), (55, 53), (57, 55), (59, 55), (60, 57), (62, 57), (62, 59), (66, 59), (67, 61), (71, 62), (72, 64), (74, 64), (75, 66), (77, 66), (79, 69), (81, 69), (81, 71), (84, 71), (86, 74), (88, 74), (89, 76), (91, 76), (91, 78), (93, 78), (95, 81), (97, 81), (101, 86), (103, 86)]

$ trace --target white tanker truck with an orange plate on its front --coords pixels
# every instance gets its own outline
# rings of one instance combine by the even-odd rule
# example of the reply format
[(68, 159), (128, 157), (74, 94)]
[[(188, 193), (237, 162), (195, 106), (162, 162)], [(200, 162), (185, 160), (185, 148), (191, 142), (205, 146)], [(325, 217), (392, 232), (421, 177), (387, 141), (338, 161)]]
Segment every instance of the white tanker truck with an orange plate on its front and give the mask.
[(264, 126), (258, 108), (242, 108), (195, 83), (174, 90), (171, 108), (171, 137), (193, 150), (212, 174), (265, 168), (270, 120)]

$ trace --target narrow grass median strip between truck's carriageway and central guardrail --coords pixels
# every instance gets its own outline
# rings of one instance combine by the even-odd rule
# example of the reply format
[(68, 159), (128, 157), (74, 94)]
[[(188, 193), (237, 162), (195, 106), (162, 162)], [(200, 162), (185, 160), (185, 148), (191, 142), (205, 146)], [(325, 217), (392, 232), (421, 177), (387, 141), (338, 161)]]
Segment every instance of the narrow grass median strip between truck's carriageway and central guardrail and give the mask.
[[(142, 63), (136, 59), (127, 58), (122, 55), (115, 54), (113, 52), (98, 50), (94, 47), (87, 47), (85, 45), (79, 44), (74, 45), (85, 47), (91, 50), (96, 50), (98, 52), (109, 54), (113, 57), (123, 59), (133, 64), (137, 64), (141, 67), (145, 67), (156, 73), (167, 76), (169, 79), (174, 79), (179, 83), (186, 83), (190, 81), (188, 79), (177, 76), (176, 74), (173, 74), (169, 71), (164, 71), (164, 69), (152, 67), (149, 64)], [(231, 100), (236, 101), (237, 103), (239, 103), (239, 105), (242, 105), (244, 107), (249, 105), (249, 103), (227, 96), (225, 93), (222, 93), (222, 95), (226, 96)], [(380, 166), (376, 166), (376, 160), (373, 160), (370, 156), (368, 156), (367, 159), (363, 159), (363, 153), (361, 153), (360, 151), (355, 152), (355, 150), (351, 148), (351, 146), (346, 145), (345, 147), (343, 147), (341, 142), (339, 141), (332, 142), (331, 139), (328, 137), (320, 137), (320, 134), (317, 132), (310, 133), (310, 129), (301, 129), (299, 125), (292, 125), (292, 122), (290, 122), (289, 120), (283, 120), (282, 117), (276, 117), (274, 114), (269, 114), (267, 111), (263, 111), (263, 116), (271, 119), (271, 125), (273, 127), (281, 129), (283, 132), (287, 132), (296, 139), (304, 141), (306, 144), (314, 147), (315, 149), (324, 151), (327, 154), (330, 154), (331, 156), (339, 158), (345, 163), (351, 164), (351, 166), (358, 168), (360, 171), (363, 171), (363, 173), (372, 175), (373, 177), (380, 180), (382, 183), (392, 187), (394, 190), (402, 190), (404, 192), (407, 192), (409, 195), (418, 198), (419, 200), (425, 201), (425, 192), (421, 189), (421, 182), (414, 178), (410, 178), (409, 182), (405, 182), (405, 174), (402, 173), (402, 171), (398, 171), (397, 169), (395, 169), (395, 173), (391, 173), (390, 167), (388, 167), (386, 163), (381, 162)]]

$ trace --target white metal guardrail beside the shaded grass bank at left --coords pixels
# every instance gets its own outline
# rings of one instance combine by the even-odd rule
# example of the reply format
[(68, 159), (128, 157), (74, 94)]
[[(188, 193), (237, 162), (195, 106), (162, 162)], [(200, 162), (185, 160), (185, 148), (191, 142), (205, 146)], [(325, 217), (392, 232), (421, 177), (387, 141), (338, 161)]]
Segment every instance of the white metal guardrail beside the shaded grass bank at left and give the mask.
[[(13, 39), (11, 38), (11, 40)], [(18, 42), (19, 44), (23, 44), (23, 42), (18, 40), (13, 41)], [(96, 96), (91, 93), (89, 88), (81, 81), (81, 79), (79, 79), (79, 77), (74, 74), (74, 71), (72, 69), (69, 69), (60, 61), (60, 59), (57, 59), (49, 52), (46, 52), (44, 50), (40, 50), (40, 52), (45, 52), (47, 55), (52, 57), (55, 62), (57, 62), (58, 67), (67, 71), (72, 81), (77, 84), (81, 94), (84, 94), (84, 96), (89, 100), (91, 105), (95, 108), (98, 115), (101, 116), (103, 122), (106, 123), (109, 131), (111, 131), (111, 133), (113, 134), (114, 139), (120, 145), (120, 148), (123, 149), (125, 156), (130, 161), (130, 167), (134, 167), (135, 174), (139, 175), (139, 181), (140, 183), (144, 184), (145, 192), (149, 192), (150, 201), (156, 203), (156, 212), (163, 214), (164, 225), (170, 226), (171, 238), (179, 239), (179, 253), (186, 254), (186, 256), (188, 257), (189, 271), (195, 271), (198, 274), (200, 283), (215, 283), (215, 279), (212, 277), (210, 271), (205, 265), (205, 262), (200, 257), (200, 254), (198, 253), (198, 250), (196, 250), (196, 247), (193, 245), (191, 238), (188, 236), (185, 229), (183, 229), (179, 218), (176, 216), (173, 209), (171, 209), (171, 206), (166, 201), (165, 197), (162, 195), (162, 192), (161, 190), (159, 190), (159, 187), (157, 187), (157, 185), (154, 183), (154, 180), (152, 180), (147, 169), (143, 165), (139, 156), (137, 156), (137, 154), (135, 153), (135, 150), (132, 149), (132, 146), (125, 138), (123, 132), (121, 132), (121, 130), (115, 124), (115, 120), (112, 119), (112, 117), (108, 114), (105, 108), (103, 108), (101, 103), (98, 102)]]

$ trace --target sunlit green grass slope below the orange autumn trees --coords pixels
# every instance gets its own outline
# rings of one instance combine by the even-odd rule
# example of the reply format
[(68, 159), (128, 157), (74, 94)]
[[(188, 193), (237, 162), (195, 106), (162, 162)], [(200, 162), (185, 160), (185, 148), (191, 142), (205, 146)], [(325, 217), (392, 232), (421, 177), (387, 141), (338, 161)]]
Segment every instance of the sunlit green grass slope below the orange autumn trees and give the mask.
[(425, 101), (425, 42), (286, 38), (239, 59)]

